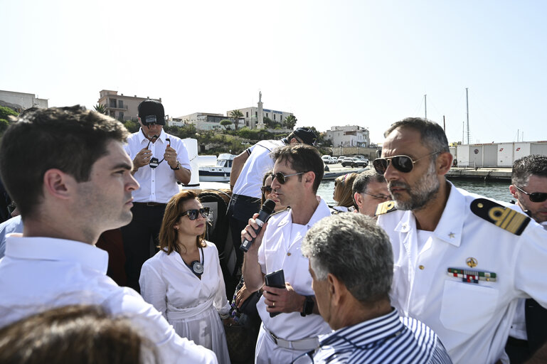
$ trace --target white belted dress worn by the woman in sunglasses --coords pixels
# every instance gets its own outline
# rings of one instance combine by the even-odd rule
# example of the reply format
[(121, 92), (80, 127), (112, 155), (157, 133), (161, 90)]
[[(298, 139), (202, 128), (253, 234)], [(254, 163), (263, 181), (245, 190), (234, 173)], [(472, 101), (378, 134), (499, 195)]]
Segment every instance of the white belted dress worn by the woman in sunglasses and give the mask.
[(218, 314), (228, 314), (230, 303), (226, 299), (218, 250), (212, 242), (206, 244), (201, 279), (179, 253), (167, 255), (160, 250), (142, 266), (141, 295), (165, 316), (176, 333), (213, 350), (218, 363), (229, 364), (226, 336)]

